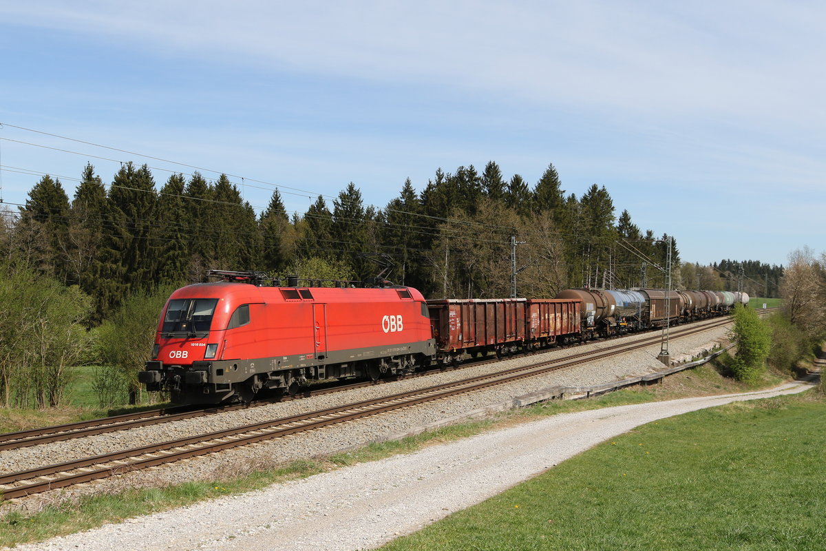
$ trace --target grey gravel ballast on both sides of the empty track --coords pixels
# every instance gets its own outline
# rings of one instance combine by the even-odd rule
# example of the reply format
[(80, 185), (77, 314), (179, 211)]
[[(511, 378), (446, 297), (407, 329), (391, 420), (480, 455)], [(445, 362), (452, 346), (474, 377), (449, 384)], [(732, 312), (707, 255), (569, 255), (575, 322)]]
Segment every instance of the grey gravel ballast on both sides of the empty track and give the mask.
[[(679, 340), (672, 340), (672, 354), (698, 354), (710, 349), (715, 340), (723, 339), (728, 328), (708, 330)], [(651, 334), (635, 335), (628, 341), (650, 337)], [(577, 352), (605, 349), (617, 344), (617, 340), (597, 342), (577, 347)], [(468, 411), (501, 404), (514, 397), (535, 392), (545, 387), (586, 386), (611, 382), (624, 377), (652, 373), (662, 369), (656, 356), (660, 344), (617, 358), (591, 362), (574, 368), (566, 368), (543, 376), (526, 378), (518, 382), (498, 385), (482, 392), (453, 397), (449, 401), (434, 401), (422, 406), (409, 407), (400, 411), (355, 420), (325, 429), (314, 430), (302, 435), (274, 439), (252, 444), (238, 449), (230, 449), (219, 454), (209, 454), (197, 458), (171, 463), (159, 468), (150, 468), (134, 473), (97, 482), (80, 484), (55, 492), (36, 494), (7, 504), (3, 509), (11, 511), (17, 507), (22, 511), (38, 511), (41, 506), (63, 499), (91, 495), (100, 492), (118, 492), (127, 487), (163, 487), (191, 480), (216, 480), (244, 474), (249, 471), (273, 467), (295, 459), (319, 457), (335, 454), (344, 449), (352, 449), (373, 441), (380, 441), (402, 435), (413, 427), (438, 423), (467, 414)], [(95, 435), (87, 439), (57, 442), (32, 446), (20, 450), (0, 453), (0, 473), (13, 472), (38, 465), (48, 465), (72, 458), (105, 454), (120, 449), (135, 448), (158, 441), (200, 435), (214, 430), (224, 430), (233, 426), (252, 422), (277, 419), (296, 415), (305, 411), (315, 411), (322, 407), (352, 403), (372, 397), (382, 397), (395, 392), (404, 392), (442, 382), (455, 381), (482, 373), (495, 373), (505, 368), (534, 363), (539, 359), (553, 359), (572, 354), (572, 349), (553, 350), (545, 354), (518, 357), (486, 366), (464, 368), (448, 373), (440, 373), (425, 378), (413, 378), (376, 387), (363, 387), (348, 392), (337, 392), (305, 400), (288, 401), (271, 406), (261, 406), (243, 411), (184, 420), (163, 425), (154, 425), (134, 430), (124, 430), (108, 435)]]

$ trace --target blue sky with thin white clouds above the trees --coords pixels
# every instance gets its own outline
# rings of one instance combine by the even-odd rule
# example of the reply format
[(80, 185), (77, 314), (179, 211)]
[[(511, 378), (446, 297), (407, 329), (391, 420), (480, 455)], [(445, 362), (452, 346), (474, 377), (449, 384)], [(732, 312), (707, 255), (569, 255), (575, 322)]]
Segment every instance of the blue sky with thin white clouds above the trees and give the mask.
[(685, 261), (785, 264), (826, 248), (824, 26), (822, 2), (759, 0), (0, 0), (2, 198), (39, 179), (17, 169), (70, 195), (87, 160), (191, 170), (14, 126), (243, 176), (255, 207), (250, 180), (277, 184), (299, 213), (351, 181), (382, 207), (439, 167), (553, 163)]

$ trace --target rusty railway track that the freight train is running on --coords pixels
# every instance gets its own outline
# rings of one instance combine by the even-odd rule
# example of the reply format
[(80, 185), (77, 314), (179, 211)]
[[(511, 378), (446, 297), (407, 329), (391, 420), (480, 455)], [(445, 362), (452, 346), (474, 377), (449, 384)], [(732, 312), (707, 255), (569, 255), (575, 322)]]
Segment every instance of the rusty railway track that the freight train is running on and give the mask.
[[(708, 321), (700, 321), (695, 323), (707, 323)], [(628, 335), (623, 335), (628, 336)], [(598, 341), (587, 341), (593, 343)], [(533, 350), (529, 355), (543, 354), (548, 352), (548, 349)], [(496, 363), (501, 359), (481, 359), (473, 362), (462, 363), (458, 368), (476, 367), (479, 365), (486, 365), (488, 363)], [(455, 367), (443, 366), (442, 368), (431, 368), (425, 372), (415, 373), (408, 377), (421, 377), (431, 373), (441, 373), (447, 369), (454, 369)], [(392, 381), (393, 379), (388, 379)], [(381, 381), (387, 382), (387, 381)], [(340, 392), (352, 388), (366, 387), (377, 382), (356, 382), (349, 384), (338, 384), (334, 387), (316, 387), (301, 392), (296, 397), (311, 397), (320, 396), (328, 392)], [(192, 406), (173, 406), (168, 408), (160, 408), (146, 411), (136, 411), (134, 413), (127, 413), (120, 416), (104, 417), (101, 419), (77, 421), (65, 425), (48, 426), (38, 429), (21, 430), (12, 433), (0, 434), (0, 451), (8, 449), (19, 449), (40, 444), (49, 444), (51, 442), (60, 442), (69, 439), (83, 438), (91, 435), (102, 435), (118, 430), (126, 430), (141, 426), (159, 425), (177, 420), (192, 419), (202, 416), (215, 415), (217, 413), (224, 413), (228, 411), (237, 411), (248, 407), (266, 406), (274, 401), (282, 401), (292, 399), (293, 397), (278, 397), (276, 399), (263, 399), (255, 401), (251, 404), (230, 404), (226, 406), (210, 406), (206, 408), (193, 409)]]

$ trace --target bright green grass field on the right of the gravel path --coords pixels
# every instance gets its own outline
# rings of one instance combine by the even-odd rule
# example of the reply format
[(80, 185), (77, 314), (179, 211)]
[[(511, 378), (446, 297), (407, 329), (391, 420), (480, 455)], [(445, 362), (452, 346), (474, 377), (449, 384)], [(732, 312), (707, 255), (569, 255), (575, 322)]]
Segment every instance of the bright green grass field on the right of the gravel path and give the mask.
[(382, 549), (824, 549), (826, 401), (644, 425)]

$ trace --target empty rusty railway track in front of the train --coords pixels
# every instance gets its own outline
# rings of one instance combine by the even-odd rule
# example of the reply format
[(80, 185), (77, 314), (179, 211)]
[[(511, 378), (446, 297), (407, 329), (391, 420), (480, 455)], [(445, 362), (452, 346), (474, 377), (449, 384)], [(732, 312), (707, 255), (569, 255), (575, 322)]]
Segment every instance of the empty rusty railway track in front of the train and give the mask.
[[(728, 319), (713, 321), (700, 327), (691, 326), (672, 331), (672, 338), (693, 335), (716, 326), (726, 325)], [(126, 449), (112, 454), (97, 455), (66, 463), (58, 463), (42, 468), (32, 468), (18, 473), (0, 475), (2, 499), (14, 499), (38, 492), (46, 492), (82, 482), (111, 477), (142, 468), (150, 468), (164, 463), (172, 463), (198, 455), (211, 454), (253, 444), (266, 439), (293, 435), (335, 425), (348, 420), (375, 416), (387, 411), (415, 406), (428, 401), (441, 400), (466, 392), (475, 392), (487, 387), (514, 382), (521, 378), (534, 377), (556, 369), (567, 368), (579, 363), (605, 359), (636, 349), (657, 344), (659, 335), (646, 337), (633, 343), (618, 344), (610, 349), (573, 354), (561, 359), (532, 363), (519, 368), (510, 368), (498, 373), (480, 375), (457, 382), (448, 382), (424, 389), (401, 392), (389, 397), (358, 401), (346, 406), (332, 407), (321, 411), (281, 419), (268, 420), (253, 425), (245, 425), (230, 430), (221, 430), (205, 435), (169, 440), (135, 449)]]

